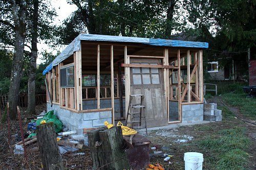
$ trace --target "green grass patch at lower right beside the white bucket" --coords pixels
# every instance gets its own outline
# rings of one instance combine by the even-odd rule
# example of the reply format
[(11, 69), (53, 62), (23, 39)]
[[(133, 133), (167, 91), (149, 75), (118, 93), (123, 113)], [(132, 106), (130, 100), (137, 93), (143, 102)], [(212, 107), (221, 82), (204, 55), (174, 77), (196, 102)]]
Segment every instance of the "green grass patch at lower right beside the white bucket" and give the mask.
[(223, 129), (205, 139), (195, 141), (196, 144), (214, 158), (207, 159), (207, 164), (217, 169), (246, 169), (248, 154), (245, 152), (250, 140), (245, 135), (246, 129), (235, 127)]

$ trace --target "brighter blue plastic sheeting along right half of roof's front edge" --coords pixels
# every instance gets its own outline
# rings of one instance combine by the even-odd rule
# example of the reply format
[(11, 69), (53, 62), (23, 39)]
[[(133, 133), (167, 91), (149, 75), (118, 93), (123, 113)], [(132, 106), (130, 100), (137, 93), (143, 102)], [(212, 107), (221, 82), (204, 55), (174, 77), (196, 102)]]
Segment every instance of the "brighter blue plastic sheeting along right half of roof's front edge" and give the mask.
[(207, 42), (179, 41), (179, 40), (166, 40), (166, 39), (154, 39), (154, 38), (151, 38), (149, 43), (143, 43), (143, 44), (157, 45), (157, 46), (173, 46), (173, 47), (208, 48)]

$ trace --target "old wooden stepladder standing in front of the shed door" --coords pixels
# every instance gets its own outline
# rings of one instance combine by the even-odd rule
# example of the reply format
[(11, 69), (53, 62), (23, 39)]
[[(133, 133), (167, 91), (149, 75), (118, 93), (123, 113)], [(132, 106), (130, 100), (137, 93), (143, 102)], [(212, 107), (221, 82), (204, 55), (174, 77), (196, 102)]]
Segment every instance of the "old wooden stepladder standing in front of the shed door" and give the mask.
[[(140, 102), (139, 103), (133, 103), (135, 101), (135, 98), (139, 97)], [(130, 101), (129, 101), (129, 107), (127, 109), (127, 114), (126, 114), (126, 125), (131, 124), (132, 129), (146, 129), (146, 115), (144, 112), (145, 106), (143, 105), (144, 101), (144, 95), (143, 94), (132, 94), (130, 95)], [(130, 122), (128, 121), (130, 115)], [(142, 118), (144, 119), (144, 126), (141, 126), (141, 120)], [(134, 126), (134, 124), (137, 124), (139, 126)], [(146, 134), (147, 134), (147, 129), (146, 129)]]

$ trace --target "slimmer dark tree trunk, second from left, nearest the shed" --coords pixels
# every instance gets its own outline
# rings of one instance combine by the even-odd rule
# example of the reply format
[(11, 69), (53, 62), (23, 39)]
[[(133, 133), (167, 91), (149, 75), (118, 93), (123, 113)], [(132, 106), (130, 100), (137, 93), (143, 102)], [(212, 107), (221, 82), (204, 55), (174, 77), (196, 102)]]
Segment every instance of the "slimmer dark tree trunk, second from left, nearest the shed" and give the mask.
[(35, 114), (35, 77), (37, 58), (37, 26), (38, 26), (38, 6), (39, 1), (34, 0), (33, 22), (31, 26), (31, 58), (28, 82), (28, 108), (29, 114)]

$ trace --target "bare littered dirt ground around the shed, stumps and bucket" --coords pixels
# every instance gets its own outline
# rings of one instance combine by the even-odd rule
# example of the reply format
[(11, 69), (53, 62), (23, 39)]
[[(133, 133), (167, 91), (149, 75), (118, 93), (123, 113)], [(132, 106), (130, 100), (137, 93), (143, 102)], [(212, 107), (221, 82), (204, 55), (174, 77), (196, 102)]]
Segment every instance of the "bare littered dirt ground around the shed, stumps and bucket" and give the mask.
[[(218, 103), (219, 106), (223, 105), (220, 102), (221, 98), (213, 99), (210, 102)], [(232, 111), (236, 111), (237, 117), (241, 117), (244, 120), (248, 120), (242, 116), (238, 108), (228, 106)], [(46, 110), (45, 105), (37, 106), (38, 114)], [(27, 124), (30, 122), (30, 117), (36, 115), (27, 115), (24, 108), (21, 109), (22, 120), (24, 131), (27, 130)], [(251, 120), (248, 120), (250, 122)], [(164, 161), (164, 157), (151, 156), (150, 162), (161, 163), (165, 169), (184, 169), (183, 156), (186, 152), (200, 152), (204, 154), (205, 161), (203, 163), (203, 169), (212, 169), (209, 166), (207, 159), (213, 157), (207, 150), (202, 150), (194, 144), (193, 141), (204, 139), (205, 136), (209, 135), (218, 130), (228, 129), (233, 127), (245, 127), (247, 129), (246, 135), (251, 139), (252, 144), (250, 145), (247, 153), (249, 156), (249, 169), (256, 169), (256, 128), (255, 125), (246, 123), (239, 118), (225, 119), (222, 122), (212, 122), (208, 124), (195, 125), (195, 126), (184, 126), (176, 129), (169, 130), (157, 130), (150, 131), (147, 138), (150, 139), (150, 147), (156, 147), (155, 151), (162, 151), (168, 155), (172, 155), (169, 161)], [(18, 137), (11, 139), (11, 145), (20, 141), (20, 130), (18, 121), (11, 121), (11, 135), (18, 134)], [(37, 147), (37, 143), (28, 145), (28, 162), (25, 161), (24, 155), (14, 155), (13, 148), (9, 147), (8, 144), (8, 130), (7, 123), (3, 124), (3, 129), (0, 129), (0, 169), (41, 169), (41, 161), (39, 151), (34, 151)], [(90, 150), (88, 147), (83, 147), (82, 150), (77, 152), (83, 152), (85, 155), (72, 155), (73, 153), (66, 153), (62, 155), (63, 164), (65, 169), (92, 169), (92, 159), (90, 156)], [(150, 149), (150, 153), (153, 154), (153, 150)]]

